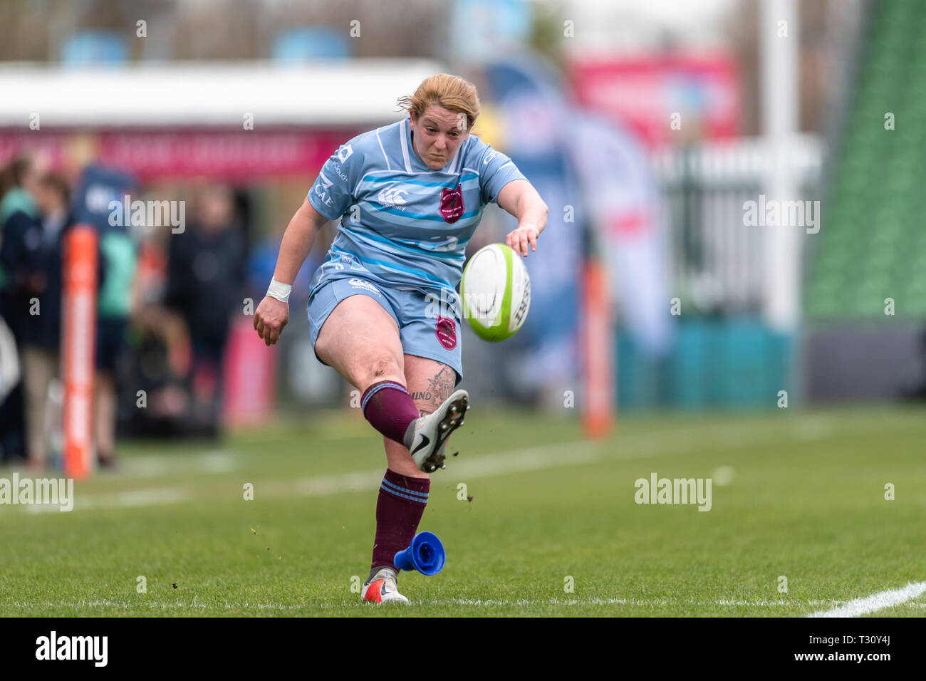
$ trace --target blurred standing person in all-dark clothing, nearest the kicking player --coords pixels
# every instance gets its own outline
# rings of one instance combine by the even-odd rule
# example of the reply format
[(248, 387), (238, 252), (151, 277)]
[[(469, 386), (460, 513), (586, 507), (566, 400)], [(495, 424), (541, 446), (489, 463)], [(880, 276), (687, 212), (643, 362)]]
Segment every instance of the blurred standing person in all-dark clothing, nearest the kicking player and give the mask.
[(196, 204), (190, 228), (170, 237), (165, 305), (180, 314), (192, 344), (194, 429), (215, 436), (230, 320), (243, 309), (246, 253), (228, 187), (207, 187)]

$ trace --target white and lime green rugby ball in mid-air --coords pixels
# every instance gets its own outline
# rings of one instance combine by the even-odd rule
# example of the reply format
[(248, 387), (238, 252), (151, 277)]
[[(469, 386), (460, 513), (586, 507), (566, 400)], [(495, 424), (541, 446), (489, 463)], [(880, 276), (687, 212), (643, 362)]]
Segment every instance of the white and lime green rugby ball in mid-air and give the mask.
[(531, 278), (520, 256), (505, 244), (490, 244), (469, 259), (460, 282), (463, 316), (483, 340), (514, 335), (531, 307)]

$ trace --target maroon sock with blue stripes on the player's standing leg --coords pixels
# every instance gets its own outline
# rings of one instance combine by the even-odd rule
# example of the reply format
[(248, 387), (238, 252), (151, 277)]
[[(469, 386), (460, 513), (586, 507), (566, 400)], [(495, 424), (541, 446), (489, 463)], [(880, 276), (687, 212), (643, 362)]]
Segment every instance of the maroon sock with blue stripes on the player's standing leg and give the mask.
[(397, 551), (407, 549), (418, 530), (421, 514), (428, 503), (431, 481), (394, 473), (388, 468), (376, 501), (376, 539), (373, 544), (373, 568), (388, 566), (398, 572), (394, 558)]

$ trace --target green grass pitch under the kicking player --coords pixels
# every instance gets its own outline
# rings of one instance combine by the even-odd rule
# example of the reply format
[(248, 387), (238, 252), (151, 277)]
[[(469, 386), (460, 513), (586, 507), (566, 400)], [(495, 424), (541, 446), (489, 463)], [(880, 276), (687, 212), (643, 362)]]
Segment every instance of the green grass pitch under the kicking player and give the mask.
[[(410, 607), (352, 591), (385, 466), (358, 410), (127, 443), (71, 512), (0, 506), (0, 615), (807, 615), (926, 580), (924, 441), (922, 408), (627, 418), (592, 443), (477, 404), (420, 525), (447, 563), (400, 575)], [(637, 504), (651, 473), (711, 478), (710, 511)]]

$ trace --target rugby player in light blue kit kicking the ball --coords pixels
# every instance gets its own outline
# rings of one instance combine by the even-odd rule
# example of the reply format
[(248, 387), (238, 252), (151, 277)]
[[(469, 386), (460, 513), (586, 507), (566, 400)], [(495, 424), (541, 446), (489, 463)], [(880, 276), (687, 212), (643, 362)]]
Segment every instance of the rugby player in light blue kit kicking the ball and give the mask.
[[(340, 219), (315, 272), (308, 325), (319, 361), (362, 393), (383, 436), (386, 472), (361, 599), (407, 602), (396, 586), (428, 501), (429, 473), (444, 468), (447, 438), (463, 424), (457, 284), (465, 250), (490, 203), (518, 219), (507, 234), (524, 258), (537, 249), (547, 206), (504, 154), (470, 134), (480, 111), (472, 83), (441, 73), (398, 99), (408, 117), (341, 145), (283, 234), (254, 328), (269, 346), (289, 321), (289, 293), (319, 228)], [(433, 301), (448, 301), (434, 314)]]

